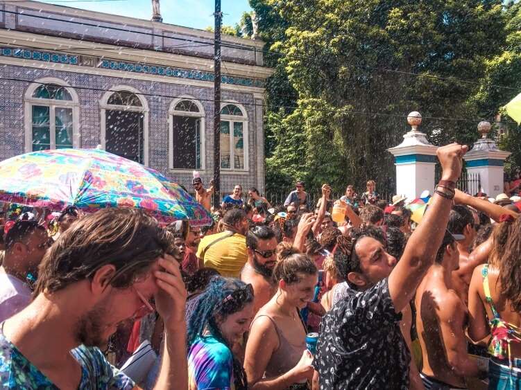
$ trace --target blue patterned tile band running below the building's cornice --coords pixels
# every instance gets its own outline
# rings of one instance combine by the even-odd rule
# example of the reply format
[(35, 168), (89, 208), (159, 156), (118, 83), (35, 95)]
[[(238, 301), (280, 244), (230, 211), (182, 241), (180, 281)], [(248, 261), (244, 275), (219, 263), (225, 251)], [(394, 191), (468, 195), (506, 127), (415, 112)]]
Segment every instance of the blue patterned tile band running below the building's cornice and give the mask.
[[(0, 47), (0, 56), (22, 58), (24, 60), (36, 60), (52, 62), (56, 64), (93, 66), (113, 71), (127, 71), (145, 73), (164, 77), (187, 78), (191, 80), (214, 81), (214, 73), (196, 70), (162, 67), (160, 65), (142, 64), (139, 62), (123, 62), (115, 60), (103, 60), (102, 57), (87, 55), (67, 55), (51, 51), (35, 51), (26, 48)], [(92, 64), (92, 65), (91, 65)], [(234, 76), (221, 76), (223, 84), (242, 85), (244, 87), (264, 88), (264, 80), (257, 78), (240, 78)]]

